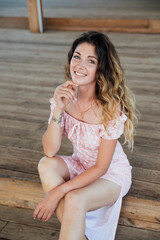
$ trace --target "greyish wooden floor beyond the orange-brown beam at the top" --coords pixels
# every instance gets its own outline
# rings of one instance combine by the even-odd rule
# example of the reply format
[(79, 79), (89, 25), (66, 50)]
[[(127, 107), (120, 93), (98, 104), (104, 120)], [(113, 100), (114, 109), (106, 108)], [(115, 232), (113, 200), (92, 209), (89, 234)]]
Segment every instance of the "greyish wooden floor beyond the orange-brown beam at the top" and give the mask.
[[(0, 16), (28, 16), (26, 0), (1, 0)], [(45, 17), (160, 19), (159, 0), (45, 0)]]

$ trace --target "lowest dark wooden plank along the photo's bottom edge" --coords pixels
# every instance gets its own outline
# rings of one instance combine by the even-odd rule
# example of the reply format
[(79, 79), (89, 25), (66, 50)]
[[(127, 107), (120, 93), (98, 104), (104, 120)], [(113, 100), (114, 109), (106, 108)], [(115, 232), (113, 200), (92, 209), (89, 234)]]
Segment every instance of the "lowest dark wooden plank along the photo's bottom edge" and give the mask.
[[(1, 239), (3, 240), (58, 240), (59, 232), (52, 229), (32, 227), (28, 225), (9, 223), (6, 228), (0, 233)], [(115, 240), (157, 240), (160, 237), (159, 232), (147, 231), (145, 229), (118, 226)]]

